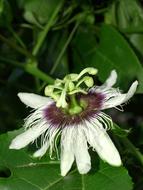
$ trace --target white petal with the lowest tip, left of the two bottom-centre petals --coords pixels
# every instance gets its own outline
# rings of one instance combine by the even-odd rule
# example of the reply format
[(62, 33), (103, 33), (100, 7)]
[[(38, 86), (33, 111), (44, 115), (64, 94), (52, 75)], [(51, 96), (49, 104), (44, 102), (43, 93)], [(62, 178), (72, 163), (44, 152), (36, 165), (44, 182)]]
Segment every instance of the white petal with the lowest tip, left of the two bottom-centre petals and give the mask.
[(61, 175), (65, 176), (71, 169), (74, 162), (73, 153), (73, 134), (72, 128), (65, 128), (62, 131), (61, 136)]

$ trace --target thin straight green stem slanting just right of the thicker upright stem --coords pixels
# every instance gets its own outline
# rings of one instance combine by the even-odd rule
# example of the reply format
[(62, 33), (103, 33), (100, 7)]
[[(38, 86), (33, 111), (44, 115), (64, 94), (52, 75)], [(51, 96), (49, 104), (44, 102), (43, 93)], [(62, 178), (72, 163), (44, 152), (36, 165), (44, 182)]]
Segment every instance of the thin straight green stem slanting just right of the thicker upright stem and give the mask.
[(73, 28), (73, 30), (71, 31), (71, 33), (70, 33), (70, 35), (69, 35), (69, 37), (68, 37), (68, 39), (67, 39), (67, 41), (66, 41), (64, 47), (62, 48), (60, 54), (58, 55), (58, 57), (57, 57), (57, 59), (56, 59), (56, 61), (55, 61), (55, 64), (54, 64), (53, 68), (52, 68), (51, 71), (50, 71), (50, 74), (51, 74), (51, 75), (55, 72), (55, 70), (56, 70), (56, 68), (57, 68), (57, 66), (58, 66), (58, 64), (59, 64), (59, 62), (60, 62), (60, 60), (61, 60), (63, 54), (65, 53), (65, 51), (66, 51), (66, 49), (67, 49), (67, 47), (68, 47), (70, 41), (71, 41), (72, 38), (73, 38), (73, 35), (74, 35), (74, 33), (75, 33), (75, 31), (76, 31), (78, 25), (79, 25), (79, 22), (77, 22), (76, 25), (74, 26), (74, 28)]

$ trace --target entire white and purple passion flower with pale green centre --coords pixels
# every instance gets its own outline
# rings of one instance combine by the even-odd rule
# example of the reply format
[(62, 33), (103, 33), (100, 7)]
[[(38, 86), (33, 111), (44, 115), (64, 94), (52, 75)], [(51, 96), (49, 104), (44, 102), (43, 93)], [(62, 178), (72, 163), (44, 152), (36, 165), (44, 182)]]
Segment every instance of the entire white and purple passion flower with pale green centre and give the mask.
[(101, 86), (94, 86), (91, 75), (96, 73), (96, 69), (86, 68), (63, 80), (56, 79), (54, 85), (45, 88), (45, 95), (49, 97), (18, 93), (20, 100), (34, 111), (25, 119), (25, 132), (12, 140), (10, 149), (21, 149), (40, 137), (41, 148), (33, 156), (42, 157), (47, 150), (52, 156), (53, 151), (59, 151), (60, 139), (62, 176), (67, 174), (74, 160), (80, 174), (91, 169), (89, 146), (102, 160), (120, 166), (119, 152), (107, 134), (112, 128), (112, 120), (102, 110), (127, 102), (135, 93), (138, 82), (122, 94), (112, 87), (117, 79), (115, 70)]

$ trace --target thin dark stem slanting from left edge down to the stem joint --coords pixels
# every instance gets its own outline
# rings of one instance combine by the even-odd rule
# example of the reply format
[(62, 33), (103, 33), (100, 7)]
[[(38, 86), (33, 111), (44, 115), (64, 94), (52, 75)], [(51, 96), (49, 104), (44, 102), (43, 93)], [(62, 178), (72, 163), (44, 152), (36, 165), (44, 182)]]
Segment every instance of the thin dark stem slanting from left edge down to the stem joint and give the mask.
[(25, 55), (26, 57), (30, 58), (31, 60), (35, 60), (35, 57), (31, 53), (29, 53), (26, 49), (23, 49), (23, 48), (17, 46), (15, 43), (8, 40), (7, 38), (2, 36), (1, 34), (0, 34), (0, 40), (3, 41), (4, 43), (6, 43), (7, 45), (11, 46), (12, 48), (14, 48), (19, 53), (21, 53), (21, 54)]

